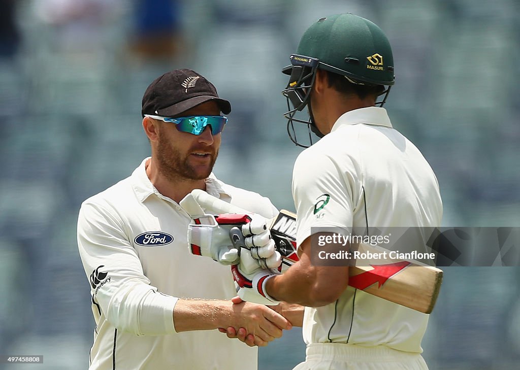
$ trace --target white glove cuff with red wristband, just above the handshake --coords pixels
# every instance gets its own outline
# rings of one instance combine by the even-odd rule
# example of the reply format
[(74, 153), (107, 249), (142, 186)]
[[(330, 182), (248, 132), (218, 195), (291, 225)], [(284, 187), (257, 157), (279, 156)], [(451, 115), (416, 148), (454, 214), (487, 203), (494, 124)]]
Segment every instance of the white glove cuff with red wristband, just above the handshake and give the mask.
[(231, 266), (233, 279), (239, 287), (237, 291), (238, 296), (244, 301), (259, 303), (261, 305), (278, 305), (280, 302), (270, 297), (265, 290), (267, 280), (277, 274), (270, 270), (259, 268), (249, 270), (255, 266), (251, 261), (257, 260), (251, 257), (249, 250), (242, 248), (239, 265)]

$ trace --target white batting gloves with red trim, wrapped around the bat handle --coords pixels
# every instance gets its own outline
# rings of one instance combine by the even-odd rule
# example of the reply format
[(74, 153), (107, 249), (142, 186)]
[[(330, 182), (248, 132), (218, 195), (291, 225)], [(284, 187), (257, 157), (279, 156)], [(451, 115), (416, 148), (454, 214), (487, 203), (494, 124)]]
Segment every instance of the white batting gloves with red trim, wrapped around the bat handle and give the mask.
[(277, 305), (265, 284), (280, 274), (282, 258), (267, 228), (267, 219), (257, 214), (206, 214), (188, 194), (181, 206), (191, 217), (188, 226), (189, 250), (230, 265), (238, 296), (262, 305)]

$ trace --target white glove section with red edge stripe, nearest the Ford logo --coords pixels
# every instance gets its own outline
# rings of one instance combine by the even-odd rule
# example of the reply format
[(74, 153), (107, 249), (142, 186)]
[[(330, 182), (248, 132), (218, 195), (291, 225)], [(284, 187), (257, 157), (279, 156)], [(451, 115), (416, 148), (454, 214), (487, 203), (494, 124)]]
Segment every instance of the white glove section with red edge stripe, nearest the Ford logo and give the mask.
[(232, 246), (229, 227), (219, 226), (212, 215), (192, 220), (188, 225), (188, 243), (191, 254), (210, 257), (222, 265), (239, 262), (239, 250)]

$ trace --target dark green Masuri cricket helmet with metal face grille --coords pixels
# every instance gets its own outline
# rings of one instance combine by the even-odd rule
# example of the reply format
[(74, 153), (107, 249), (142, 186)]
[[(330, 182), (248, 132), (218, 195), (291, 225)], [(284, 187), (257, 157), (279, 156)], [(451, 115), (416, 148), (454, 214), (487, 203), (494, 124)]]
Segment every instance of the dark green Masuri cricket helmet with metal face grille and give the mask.
[[(290, 139), (304, 148), (308, 146), (298, 142), (293, 122), (307, 125), (310, 144), (313, 143), (310, 131), (323, 137), (316, 127), (310, 107), (310, 91), (318, 69), (343, 75), (350, 83), (357, 85), (387, 86), (381, 92), (383, 99), (376, 102), (380, 107), (395, 81), (392, 48), (385, 34), (368, 19), (350, 13), (318, 19), (305, 31), (296, 54), (291, 55), (290, 59), (291, 65), (282, 70), (291, 76), (282, 91), (287, 98), (288, 109), (284, 117), (288, 119)], [(295, 114), (306, 106), (309, 108), (309, 119), (295, 118)]]

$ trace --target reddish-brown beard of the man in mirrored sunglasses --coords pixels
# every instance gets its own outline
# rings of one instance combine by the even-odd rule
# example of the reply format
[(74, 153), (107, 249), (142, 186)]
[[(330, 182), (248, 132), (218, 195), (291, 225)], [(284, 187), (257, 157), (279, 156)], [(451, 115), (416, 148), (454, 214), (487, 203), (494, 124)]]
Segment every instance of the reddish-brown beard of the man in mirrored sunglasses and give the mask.
[[(206, 149), (205, 149), (206, 150)], [(204, 150), (204, 151), (205, 151)], [(162, 141), (159, 139), (157, 148), (157, 161), (159, 163), (159, 171), (168, 179), (172, 181), (184, 180), (203, 180), (210, 176), (215, 161), (217, 160), (218, 150), (215, 153), (211, 153), (211, 162), (207, 167), (207, 170), (201, 172), (197, 171), (189, 163), (190, 153), (193, 153), (190, 149), (185, 156), (176, 148), (172, 148), (168, 141)]]

